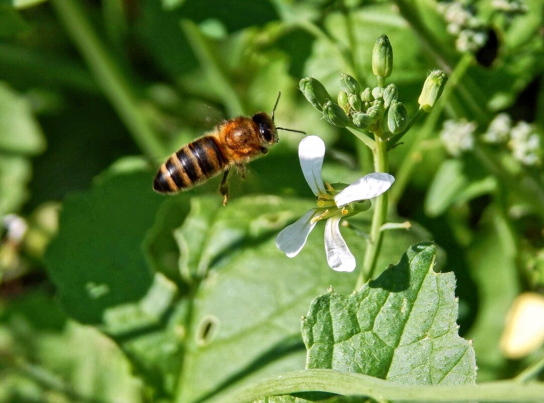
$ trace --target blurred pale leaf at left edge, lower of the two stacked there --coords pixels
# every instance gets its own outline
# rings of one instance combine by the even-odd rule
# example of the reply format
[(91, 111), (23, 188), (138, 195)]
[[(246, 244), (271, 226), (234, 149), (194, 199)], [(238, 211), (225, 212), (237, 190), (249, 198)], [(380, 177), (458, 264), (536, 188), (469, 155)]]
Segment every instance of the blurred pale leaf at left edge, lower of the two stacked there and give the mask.
[(30, 170), (30, 162), (26, 158), (0, 155), (0, 216), (17, 211), (26, 201)]

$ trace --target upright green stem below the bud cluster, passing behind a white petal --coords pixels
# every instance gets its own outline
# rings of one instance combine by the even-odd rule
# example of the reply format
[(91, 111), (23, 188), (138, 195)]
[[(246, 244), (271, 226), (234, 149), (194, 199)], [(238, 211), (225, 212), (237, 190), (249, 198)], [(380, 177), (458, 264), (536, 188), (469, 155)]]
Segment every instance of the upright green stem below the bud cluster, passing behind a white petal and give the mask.
[[(374, 171), (388, 172), (387, 142), (381, 139), (380, 134), (380, 132), (376, 132), (374, 135), (376, 144), (374, 149)], [(370, 236), (367, 241), (366, 251), (364, 252), (363, 266), (357, 277), (356, 290), (360, 289), (364, 281), (372, 278), (374, 274), (376, 260), (378, 260), (381, 243), (384, 238), (384, 233), (380, 231), (380, 228), (385, 224), (386, 220), (387, 192), (380, 194), (380, 196), (374, 199), (374, 215), (372, 216), (372, 224), (370, 225)]]

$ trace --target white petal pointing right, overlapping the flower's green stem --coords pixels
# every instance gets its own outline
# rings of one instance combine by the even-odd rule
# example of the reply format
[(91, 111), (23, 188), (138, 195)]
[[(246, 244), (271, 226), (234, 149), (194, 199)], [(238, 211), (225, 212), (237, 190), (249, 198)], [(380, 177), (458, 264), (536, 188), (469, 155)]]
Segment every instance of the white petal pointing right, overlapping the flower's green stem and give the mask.
[(380, 196), (391, 187), (395, 178), (383, 172), (374, 172), (364, 175), (361, 179), (349, 185), (335, 196), (338, 207), (345, 206), (352, 201), (368, 200)]

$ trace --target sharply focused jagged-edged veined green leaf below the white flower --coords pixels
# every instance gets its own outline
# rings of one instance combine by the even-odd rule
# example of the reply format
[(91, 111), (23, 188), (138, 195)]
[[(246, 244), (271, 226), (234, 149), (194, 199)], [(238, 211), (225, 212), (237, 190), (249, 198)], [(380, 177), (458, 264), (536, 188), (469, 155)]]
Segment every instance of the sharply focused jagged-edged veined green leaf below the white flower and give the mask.
[(474, 350), (455, 322), (455, 278), (432, 270), (435, 253), (434, 244), (420, 243), (357, 292), (317, 297), (302, 320), (307, 368), (400, 383), (474, 383)]

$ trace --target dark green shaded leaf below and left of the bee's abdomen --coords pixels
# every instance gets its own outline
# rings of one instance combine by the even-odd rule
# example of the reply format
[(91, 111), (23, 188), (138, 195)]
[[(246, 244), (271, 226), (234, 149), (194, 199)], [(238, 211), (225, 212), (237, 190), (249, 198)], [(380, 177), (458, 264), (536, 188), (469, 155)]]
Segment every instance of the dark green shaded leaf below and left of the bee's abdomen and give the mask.
[(139, 303), (150, 290), (143, 242), (164, 200), (151, 183), (149, 172), (116, 175), (66, 199), (45, 259), (74, 319), (101, 323), (108, 308)]

